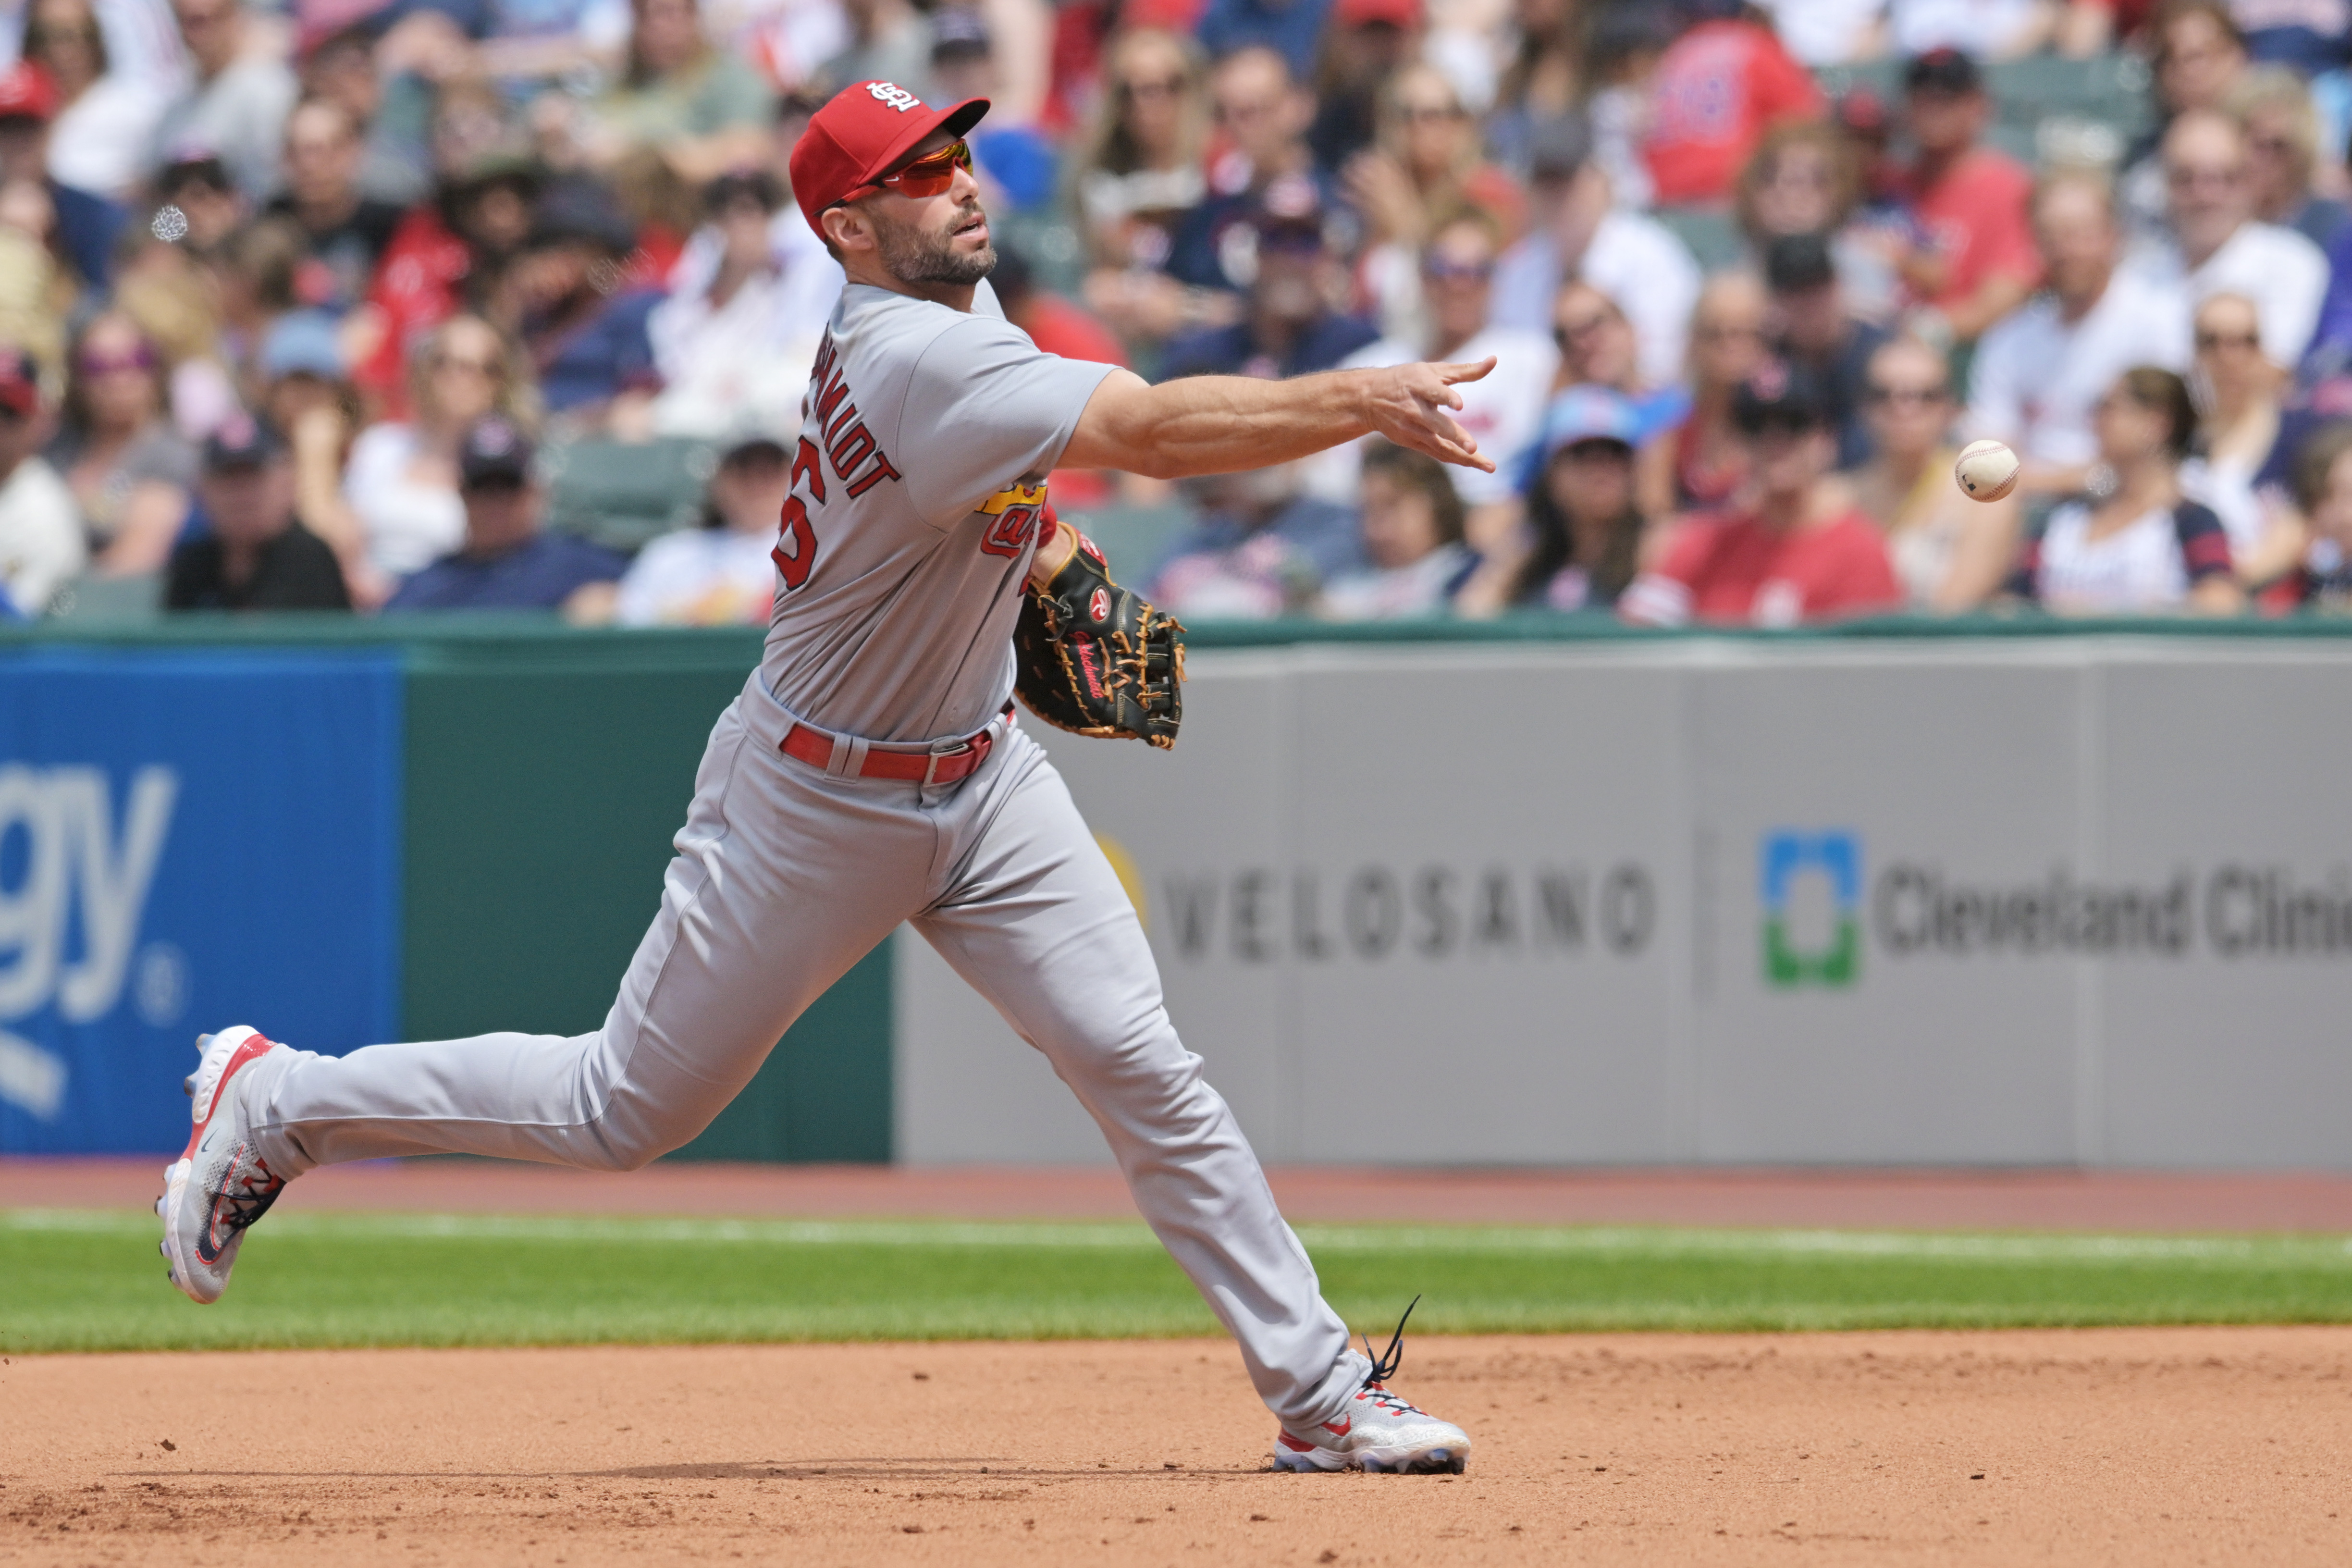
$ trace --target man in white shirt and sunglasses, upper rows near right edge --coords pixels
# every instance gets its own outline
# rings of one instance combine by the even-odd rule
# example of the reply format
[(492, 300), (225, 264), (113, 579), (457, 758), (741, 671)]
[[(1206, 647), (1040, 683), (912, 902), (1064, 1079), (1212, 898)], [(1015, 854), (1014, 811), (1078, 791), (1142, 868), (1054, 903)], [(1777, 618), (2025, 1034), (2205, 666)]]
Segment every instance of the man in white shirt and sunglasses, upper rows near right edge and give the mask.
[(2253, 216), (2246, 132), (2213, 110), (2190, 110), (2164, 134), (2171, 235), (2133, 259), (2159, 287), (2192, 301), (2244, 294), (2263, 315), (2263, 353), (2293, 369), (2319, 324), (2328, 261), (2291, 228)]

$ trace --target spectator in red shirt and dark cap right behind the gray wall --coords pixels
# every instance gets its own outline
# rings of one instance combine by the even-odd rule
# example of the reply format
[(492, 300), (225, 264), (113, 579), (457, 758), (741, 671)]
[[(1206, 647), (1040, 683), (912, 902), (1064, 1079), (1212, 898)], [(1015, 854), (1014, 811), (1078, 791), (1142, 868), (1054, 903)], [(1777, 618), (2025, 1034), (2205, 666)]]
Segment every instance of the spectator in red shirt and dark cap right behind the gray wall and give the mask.
[(1828, 482), (1830, 407), (1802, 367), (1766, 364), (1731, 397), (1748, 487), (1722, 517), (1689, 524), (1637, 576), (1618, 614), (1646, 625), (1799, 625), (1903, 607), (1886, 541)]

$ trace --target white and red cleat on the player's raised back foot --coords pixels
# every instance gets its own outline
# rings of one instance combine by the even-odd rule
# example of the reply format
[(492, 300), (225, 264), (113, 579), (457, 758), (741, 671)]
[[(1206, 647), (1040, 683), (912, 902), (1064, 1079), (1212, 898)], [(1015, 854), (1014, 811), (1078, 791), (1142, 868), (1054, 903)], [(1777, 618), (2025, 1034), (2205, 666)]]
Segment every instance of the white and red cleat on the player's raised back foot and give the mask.
[(183, 1084), (195, 1098), (188, 1112), (195, 1128), (188, 1133), (188, 1150), (162, 1171), (155, 1213), (162, 1215), (160, 1251), (172, 1265), (172, 1284), (188, 1300), (209, 1305), (228, 1288), (245, 1227), (285, 1192), (285, 1178), (254, 1152), (233, 1091), (238, 1072), (285, 1046), (238, 1025), (200, 1034), (195, 1048), (202, 1058)]

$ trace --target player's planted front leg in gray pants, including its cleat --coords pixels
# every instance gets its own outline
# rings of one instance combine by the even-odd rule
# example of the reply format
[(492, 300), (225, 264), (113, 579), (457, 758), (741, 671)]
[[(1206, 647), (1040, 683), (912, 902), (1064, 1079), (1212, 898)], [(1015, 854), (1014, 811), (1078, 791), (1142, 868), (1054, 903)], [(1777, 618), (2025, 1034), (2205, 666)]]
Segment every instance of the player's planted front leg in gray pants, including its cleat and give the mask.
[(1348, 1347), (1256, 1152), (1176, 1037), (1136, 910), (1061, 776), (1018, 731), (1002, 762), (985, 792), (941, 802), (953, 853), (915, 929), (1103, 1128), (1136, 1208), (1282, 1422), (1277, 1462), (1461, 1469), (1458, 1427), (1367, 1382), (1376, 1368)]

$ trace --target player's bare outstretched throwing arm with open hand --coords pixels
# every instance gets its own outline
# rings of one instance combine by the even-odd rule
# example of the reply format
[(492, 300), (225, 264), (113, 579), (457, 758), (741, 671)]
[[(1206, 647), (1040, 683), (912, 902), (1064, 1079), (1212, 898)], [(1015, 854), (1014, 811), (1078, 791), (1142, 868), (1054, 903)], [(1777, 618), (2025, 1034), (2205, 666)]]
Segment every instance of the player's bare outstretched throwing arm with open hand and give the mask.
[(1494, 357), (1477, 364), (1338, 369), (1296, 381), (1185, 376), (1162, 386), (1110, 371), (1087, 402), (1058, 468), (1124, 468), (1152, 480), (1183, 480), (1289, 463), (1359, 435), (1385, 435), (1439, 463), (1494, 473), (1470, 433), (1454, 421), (1454, 409), (1463, 407), (1454, 386), (1491, 369)]

